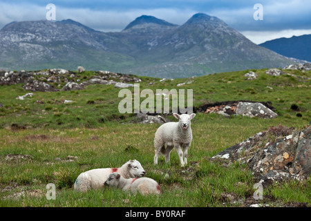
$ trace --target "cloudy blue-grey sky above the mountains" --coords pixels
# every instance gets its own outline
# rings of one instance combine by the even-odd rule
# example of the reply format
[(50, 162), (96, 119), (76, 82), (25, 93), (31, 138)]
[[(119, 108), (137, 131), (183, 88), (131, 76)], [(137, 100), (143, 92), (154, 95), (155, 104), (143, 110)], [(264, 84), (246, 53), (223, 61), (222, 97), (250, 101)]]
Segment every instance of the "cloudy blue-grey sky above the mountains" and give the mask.
[[(73, 19), (104, 32), (120, 31), (141, 15), (182, 25), (202, 12), (222, 19), (256, 44), (311, 34), (309, 0), (0, 0), (0, 28), (12, 21), (46, 19), (48, 3), (56, 6), (56, 21)], [(263, 20), (253, 17), (256, 3), (263, 6)]]

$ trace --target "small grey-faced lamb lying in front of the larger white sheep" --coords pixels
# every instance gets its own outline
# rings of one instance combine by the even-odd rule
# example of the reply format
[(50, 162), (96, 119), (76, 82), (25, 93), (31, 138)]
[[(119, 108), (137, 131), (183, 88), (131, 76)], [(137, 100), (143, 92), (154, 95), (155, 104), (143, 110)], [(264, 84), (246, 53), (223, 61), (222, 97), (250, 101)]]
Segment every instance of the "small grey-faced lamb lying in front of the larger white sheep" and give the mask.
[(111, 173), (105, 182), (105, 186), (117, 186), (124, 191), (140, 192), (142, 195), (161, 193), (160, 186), (156, 180), (148, 177), (125, 179), (120, 173)]

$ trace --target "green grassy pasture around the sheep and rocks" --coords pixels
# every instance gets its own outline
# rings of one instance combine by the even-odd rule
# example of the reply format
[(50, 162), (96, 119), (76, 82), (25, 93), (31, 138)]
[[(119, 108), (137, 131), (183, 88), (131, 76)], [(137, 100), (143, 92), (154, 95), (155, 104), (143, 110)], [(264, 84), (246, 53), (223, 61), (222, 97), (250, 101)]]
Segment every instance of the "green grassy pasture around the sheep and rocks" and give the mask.
[[(28, 93), (21, 84), (0, 86), (0, 206), (310, 206), (310, 180), (270, 186), (264, 189), (263, 200), (256, 201), (253, 177), (245, 165), (224, 167), (209, 161), (270, 126), (302, 128), (310, 122), (310, 71), (286, 70), (296, 77), (253, 71), (258, 75), (253, 81), (245, 80), (248, 70), (162, 82), (142, 77), (140, 90), (193, 89), (196, 107), (245, 99), (271, 102), (279, 114), (275, 119), (259, 119), (198, 113), (191, 124), (194, 140), (185, 168), (180, 168), (176, 151), (171, 153), (171, 164), (160, 157), (159, 164), (153, 165), (153, 138), (159, 125), (132, 124), (133, 114), (120, 114), (119, 88), (91, 85), (84, 90), (35, 92), (19, 100), (15, 99), (18, 95)], [(93, 75), (86, 72), (81, 79)], [(192, 82), (176, 86), (187, 81)], [(73, 103), (62, 104), (64, 99)], [(292, 110), (292, 105), (298, 110)], [(143, 197), (111, 189), (73, 191), (79, 173), (121, 166), (134, 158), (147, 177), (160, 183), (162, 195)], [(57, 187), (56, 200), (46, 199), (48, 183)]]

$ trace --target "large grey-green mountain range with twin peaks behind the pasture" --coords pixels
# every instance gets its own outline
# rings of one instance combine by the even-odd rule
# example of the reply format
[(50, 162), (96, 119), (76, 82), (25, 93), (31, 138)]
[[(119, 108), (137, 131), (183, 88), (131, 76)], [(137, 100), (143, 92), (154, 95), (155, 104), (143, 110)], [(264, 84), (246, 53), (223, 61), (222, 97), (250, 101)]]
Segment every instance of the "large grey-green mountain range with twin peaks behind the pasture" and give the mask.
[(84, 66), (177, 78), (293, 63), (202, 13), (181, 26), (142, 15), (120, 32), (100, 32), (70, 19), (12, 22), (0, 30), (0, 48), (0, 68), (10, 70)]

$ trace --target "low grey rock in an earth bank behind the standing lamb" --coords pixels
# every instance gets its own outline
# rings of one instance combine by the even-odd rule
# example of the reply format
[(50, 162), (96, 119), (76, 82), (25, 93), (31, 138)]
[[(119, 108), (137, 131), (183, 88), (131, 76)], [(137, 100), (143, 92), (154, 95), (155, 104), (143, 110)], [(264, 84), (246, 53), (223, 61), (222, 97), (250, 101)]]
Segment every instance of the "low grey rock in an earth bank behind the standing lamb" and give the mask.
[(211, 104), (202, 104), (198, 107), (198, 112), (217, 113), (225, 117), (231, 115), (243, 115), (249, 117), (274, 118), (275, 108), (268, 102), (252, 102), (252, 101), (227, 101), (216, 102)]

